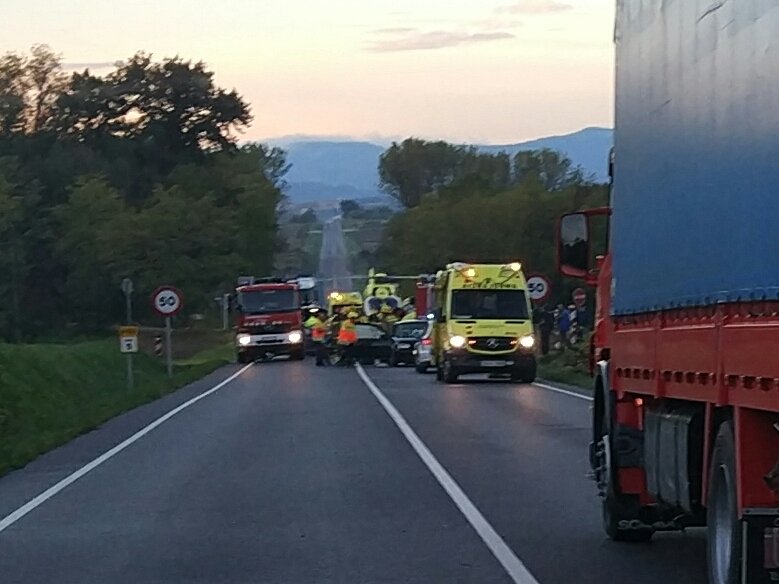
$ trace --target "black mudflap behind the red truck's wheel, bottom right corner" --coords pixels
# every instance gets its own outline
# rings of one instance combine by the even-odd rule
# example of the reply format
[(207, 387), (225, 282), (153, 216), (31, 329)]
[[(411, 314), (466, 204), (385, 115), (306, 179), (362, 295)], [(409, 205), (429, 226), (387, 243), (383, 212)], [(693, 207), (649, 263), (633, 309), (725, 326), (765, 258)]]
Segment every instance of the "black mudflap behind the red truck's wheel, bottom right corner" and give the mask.
[(779, 582), (779, 509), (744, 509), (742, 584)]

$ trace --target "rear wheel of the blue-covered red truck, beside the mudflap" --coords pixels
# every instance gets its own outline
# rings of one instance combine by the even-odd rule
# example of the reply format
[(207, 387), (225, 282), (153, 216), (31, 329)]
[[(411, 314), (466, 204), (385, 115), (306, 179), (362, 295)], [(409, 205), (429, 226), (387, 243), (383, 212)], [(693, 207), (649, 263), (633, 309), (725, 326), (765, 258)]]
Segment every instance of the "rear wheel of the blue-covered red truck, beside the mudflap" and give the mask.
[(742, 541), (736, 503), (736, 447), (731, 422), (717, 432), (709, 470), (706, 509), (709, 582), (738, 584)]

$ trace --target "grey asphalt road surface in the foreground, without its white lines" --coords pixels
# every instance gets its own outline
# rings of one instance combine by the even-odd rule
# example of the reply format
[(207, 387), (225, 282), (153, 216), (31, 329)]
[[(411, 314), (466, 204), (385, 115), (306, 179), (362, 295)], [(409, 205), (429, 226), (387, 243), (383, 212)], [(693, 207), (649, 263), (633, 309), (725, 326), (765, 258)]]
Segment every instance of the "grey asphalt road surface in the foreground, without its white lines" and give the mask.
[[(238, 370), (0, 479), (0, 517)], [(366, 371), (536, 581), (704, 584), (701, 531), (604, 538), (587, 401)], [(310, 360), (249, 366), (7, 523), (3, 583), (512, 581), (358, 373)]]

